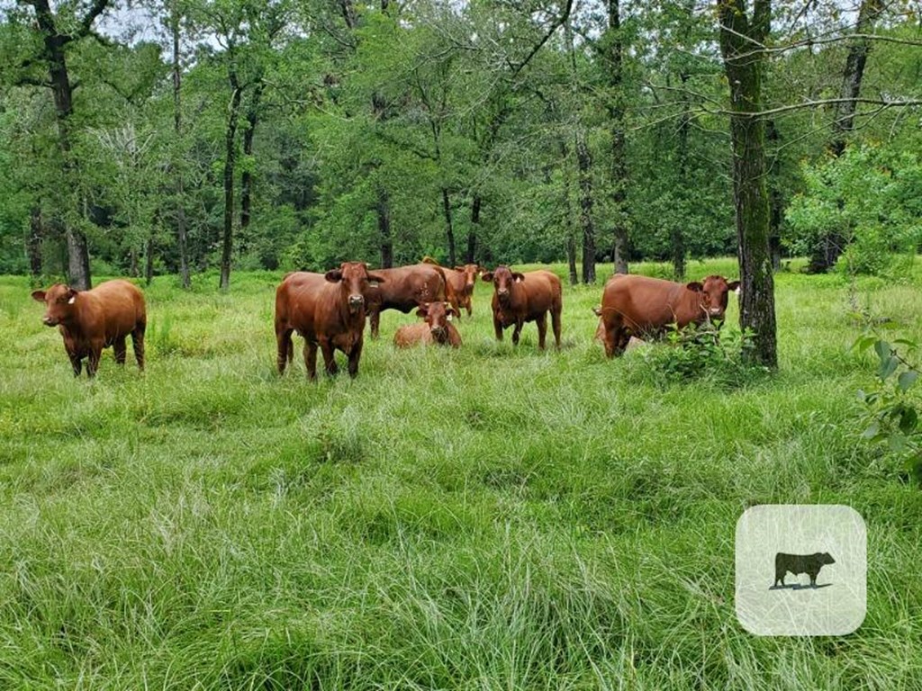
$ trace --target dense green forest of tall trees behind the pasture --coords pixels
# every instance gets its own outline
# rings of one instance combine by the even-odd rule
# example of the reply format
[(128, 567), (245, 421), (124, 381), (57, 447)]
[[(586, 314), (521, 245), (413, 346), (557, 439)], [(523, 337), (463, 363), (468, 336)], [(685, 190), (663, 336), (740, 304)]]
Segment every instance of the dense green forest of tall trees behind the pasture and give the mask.
[(892, 269), (922, 236), (918, 4), (747, 5), (5, 0), (0, 273), (683, 275), (737, 252), (718, 34), (760, 5), (774, 260)]

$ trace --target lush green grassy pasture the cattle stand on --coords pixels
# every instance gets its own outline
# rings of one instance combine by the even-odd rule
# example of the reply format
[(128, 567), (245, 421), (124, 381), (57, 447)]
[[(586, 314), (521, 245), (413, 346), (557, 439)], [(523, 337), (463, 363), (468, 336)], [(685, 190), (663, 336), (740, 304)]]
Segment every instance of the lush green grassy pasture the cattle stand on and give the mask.
[[(922, 688), (922, 493), (858, 439), (841, 277), (777, 276), (781, 369), (734, 390), (606, 360), (600, 286), (564, 288), (560, 354), (496, 344), (482, 283), (457, 352), (396, 352), (388, 311), (355, 381), (279, 379), (278, 279), (156, 279), (148, 371), (89, 382), (0, 277), (0, 688)], [(920, 284), (857, 296), (919, 338)], [(739, 627), (759, 503), (865, 517), (856, 634)]]

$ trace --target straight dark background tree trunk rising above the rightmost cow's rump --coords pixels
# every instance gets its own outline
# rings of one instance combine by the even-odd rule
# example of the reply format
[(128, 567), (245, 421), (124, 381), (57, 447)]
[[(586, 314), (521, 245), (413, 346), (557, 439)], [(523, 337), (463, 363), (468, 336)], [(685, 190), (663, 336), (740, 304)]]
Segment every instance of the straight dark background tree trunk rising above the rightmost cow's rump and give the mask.
[(621, 8), (619, 0), (609, 0), (609, 30), (605, 46), (609, 75), (609, 133), (611, 135), (611, 201), (614, 214), (614, 245), (612, 262), (616, 274), (628, 273), (627, 225), (627, 156), (624, 146), (623, 40), (621, 38)]

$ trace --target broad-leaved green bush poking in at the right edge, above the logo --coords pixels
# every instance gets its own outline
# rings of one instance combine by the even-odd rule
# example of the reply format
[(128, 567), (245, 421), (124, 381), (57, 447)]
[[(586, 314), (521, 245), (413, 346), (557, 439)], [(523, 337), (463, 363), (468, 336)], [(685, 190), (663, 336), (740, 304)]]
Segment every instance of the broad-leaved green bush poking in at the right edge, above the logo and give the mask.
[(858, 350), (873, 348), (878, 357), (876, 385), (869, 391), (858, 391), (858, 399), (866, 405), (868, 416), (868, 427), (862, 436), (886, 444), (903, 459), (916, 482), (922, 483), (922, 429), (919, 428), (922, 402), (913, 388), (920, 370), (911, 361), (917, 360), (919, 345), (904, 338), (894, 340), (893, 344), (902, 345), (904, 354), (878, 334), (866, 334), (855, 344)]

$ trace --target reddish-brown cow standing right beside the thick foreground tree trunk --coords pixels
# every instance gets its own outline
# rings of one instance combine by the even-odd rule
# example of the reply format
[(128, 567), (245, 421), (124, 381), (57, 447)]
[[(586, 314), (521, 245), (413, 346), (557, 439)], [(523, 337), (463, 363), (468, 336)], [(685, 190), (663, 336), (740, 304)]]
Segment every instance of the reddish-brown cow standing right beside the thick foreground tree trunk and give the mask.
[(682, 328), (722, 320), (727, 294), (739, 281), (709, 275), (681, 284), (643, 275), (614, 275), (602, 294), (602, 342), (608, 357), (621, 355), (632, 335), (656, 336), (668, 324)]

